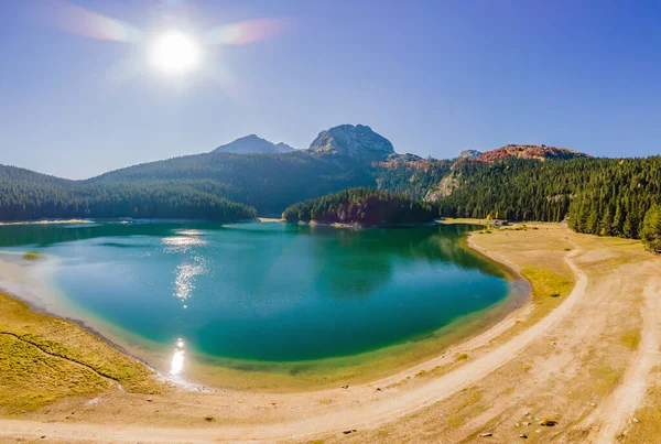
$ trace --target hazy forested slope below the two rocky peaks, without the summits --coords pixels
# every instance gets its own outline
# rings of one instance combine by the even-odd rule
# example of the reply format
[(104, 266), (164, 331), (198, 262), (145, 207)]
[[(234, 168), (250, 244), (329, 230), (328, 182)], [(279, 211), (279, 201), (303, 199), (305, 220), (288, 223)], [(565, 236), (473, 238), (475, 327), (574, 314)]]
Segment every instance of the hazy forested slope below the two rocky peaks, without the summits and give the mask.
[(209, 153), (153, 162), (104, 174), (89, 184), (185, 182), (191, 187), (280, 215), (296, 202), (351, 186), (371, 186), (369, 165), (343, 156), (307, 152)]

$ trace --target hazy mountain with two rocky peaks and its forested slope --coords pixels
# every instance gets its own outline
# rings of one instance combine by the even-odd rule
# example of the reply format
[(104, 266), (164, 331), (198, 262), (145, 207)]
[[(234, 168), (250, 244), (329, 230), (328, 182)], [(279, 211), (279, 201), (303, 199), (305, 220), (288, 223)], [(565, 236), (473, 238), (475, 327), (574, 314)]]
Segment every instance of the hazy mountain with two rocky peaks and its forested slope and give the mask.
[(130, 166), (88, 182), (185, 183), (252, 206), (260, 215), (280, 215), (300, 201), (349, 187), (376, 187), (381, 169), (373, 161), (395, 155), (386, 138), (369, 127), (349, 124), (323, 131), (308, 150), (245, 154), (264, 149), (271, 150), (271, 142), (250, 136), (210, 153)]

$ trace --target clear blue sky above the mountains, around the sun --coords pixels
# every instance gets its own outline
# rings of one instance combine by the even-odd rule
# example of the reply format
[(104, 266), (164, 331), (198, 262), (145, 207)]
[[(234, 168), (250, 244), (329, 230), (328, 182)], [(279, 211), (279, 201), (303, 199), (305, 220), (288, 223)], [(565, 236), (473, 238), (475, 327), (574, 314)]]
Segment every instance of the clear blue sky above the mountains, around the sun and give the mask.
[[(307, 148), (340, 123), (434, 158), (661, 153), (659, 1), (22, 0), (0, 18), (0, 163), (48, 174), (249, 133)], [(196, 71), (153, 66), (175, 29), (201, 42)]]

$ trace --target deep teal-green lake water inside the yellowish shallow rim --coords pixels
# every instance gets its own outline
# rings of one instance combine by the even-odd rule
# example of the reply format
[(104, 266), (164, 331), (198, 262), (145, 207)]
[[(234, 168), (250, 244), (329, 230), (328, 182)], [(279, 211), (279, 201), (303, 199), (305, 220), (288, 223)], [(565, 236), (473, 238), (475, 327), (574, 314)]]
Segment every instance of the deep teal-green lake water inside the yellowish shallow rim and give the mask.
[(0, 247), (58, 257), (36, 267), (54, 267), (74, 304), (131, 334), (299, 361), (414, 339), (501, 301), (508, 281), (458, 243), (469, 228), (24, 225), (0, 227)]

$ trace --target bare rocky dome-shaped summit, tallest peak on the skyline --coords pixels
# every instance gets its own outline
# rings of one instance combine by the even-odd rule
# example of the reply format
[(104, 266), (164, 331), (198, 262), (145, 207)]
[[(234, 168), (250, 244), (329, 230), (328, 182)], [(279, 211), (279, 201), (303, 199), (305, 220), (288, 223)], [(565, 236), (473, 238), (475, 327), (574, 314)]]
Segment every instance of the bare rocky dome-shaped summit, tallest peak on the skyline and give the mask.
[(386, 160), (394, 154), (392, 143), (362, 124), (340, 124), (319, 132), (310, 144), (314, 154), (332, 154), (364, 162)]

